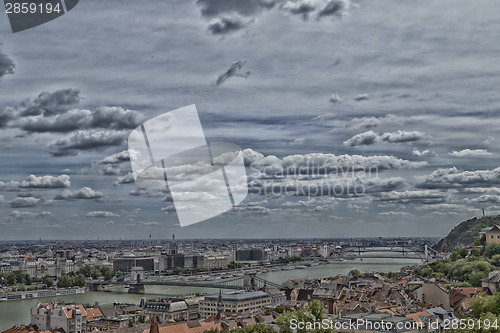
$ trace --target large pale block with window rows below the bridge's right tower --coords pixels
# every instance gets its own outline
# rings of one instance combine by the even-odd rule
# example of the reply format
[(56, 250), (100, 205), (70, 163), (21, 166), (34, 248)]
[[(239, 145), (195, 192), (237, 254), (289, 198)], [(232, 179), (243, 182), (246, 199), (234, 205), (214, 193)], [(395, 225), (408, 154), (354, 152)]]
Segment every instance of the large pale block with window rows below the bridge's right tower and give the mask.
[(200, 301), (200, 316), (216, 316), (218, 313), (256, 313), (272, 304), (271, 296), (263, 291), (219, 293), (205, 296)]

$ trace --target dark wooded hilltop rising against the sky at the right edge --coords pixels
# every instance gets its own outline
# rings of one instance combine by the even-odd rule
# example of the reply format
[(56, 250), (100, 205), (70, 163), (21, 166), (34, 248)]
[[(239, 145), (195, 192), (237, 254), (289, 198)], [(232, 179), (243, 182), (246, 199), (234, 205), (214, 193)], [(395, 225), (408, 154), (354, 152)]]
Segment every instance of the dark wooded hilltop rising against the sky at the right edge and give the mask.
[(481, 229), (493, 227), (497, 224), (500, 225), (500, 216), (485, 216), (482, 218), (474, 217), (472, 219), (465, 220), (453, 228), (445, 238), (441, 239), (439, 243), (436, 244), (434, 248), (437, 251), (443, 251), (445, 242), (446, 250), (448, 252), (456, 247), (470, 246), (478, 237)]

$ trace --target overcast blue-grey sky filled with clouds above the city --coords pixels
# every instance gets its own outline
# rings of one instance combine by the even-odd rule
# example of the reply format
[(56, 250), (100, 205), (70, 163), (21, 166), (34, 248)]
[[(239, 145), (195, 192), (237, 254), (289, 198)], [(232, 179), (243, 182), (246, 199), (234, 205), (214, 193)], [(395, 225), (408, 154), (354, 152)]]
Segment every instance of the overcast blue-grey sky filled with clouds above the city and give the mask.
[[(0, 240), (441, 237), (498, 215), (499, 10), (82, 0), (18, 33), (0, 15)], [(192, 104), (249, 194), (181, 227), (127, 138)]]

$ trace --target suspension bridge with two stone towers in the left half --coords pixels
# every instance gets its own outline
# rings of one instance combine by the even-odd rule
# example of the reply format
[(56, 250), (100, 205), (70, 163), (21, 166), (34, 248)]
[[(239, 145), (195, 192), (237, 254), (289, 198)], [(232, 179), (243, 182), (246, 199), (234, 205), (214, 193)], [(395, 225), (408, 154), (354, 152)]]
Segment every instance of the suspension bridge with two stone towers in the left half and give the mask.
[(269, 288), (281, 288), (277, 283), (264, 280), (256, 276), (255, 272), (247, 272), (244, 276), (221, 279), (215, 281), (179, 281), (179, 280), (166, 280), (157, 276), (148, 276), (144, 278), (142, 269), (135, 268), (130, 273), (128, 281), (100, 281), (95, 280), (88, 283), (89, 289), (98, 291), (102, 290), (106, 285), (123, 285), (129, 286), (128, 292), (130, 294), (144, 294), (146, 286), (176, 286), (176, 287), (197, 287), (197, 288), (216, 288), (216, 289), (233, 289), (233, 290), (265, 290)]

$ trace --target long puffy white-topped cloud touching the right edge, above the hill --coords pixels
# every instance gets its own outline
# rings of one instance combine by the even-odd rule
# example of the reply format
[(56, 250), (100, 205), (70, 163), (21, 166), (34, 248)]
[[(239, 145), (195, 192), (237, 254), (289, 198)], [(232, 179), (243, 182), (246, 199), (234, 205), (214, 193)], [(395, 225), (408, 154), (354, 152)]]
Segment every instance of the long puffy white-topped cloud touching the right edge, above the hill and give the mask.
[(451, 189), (500, 185), (500, 167), (493, 170), (461, 171), (456, 167), (438, 169), (416, 185), (417, 188)]

